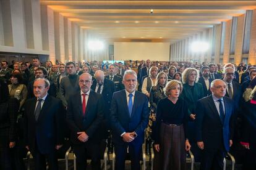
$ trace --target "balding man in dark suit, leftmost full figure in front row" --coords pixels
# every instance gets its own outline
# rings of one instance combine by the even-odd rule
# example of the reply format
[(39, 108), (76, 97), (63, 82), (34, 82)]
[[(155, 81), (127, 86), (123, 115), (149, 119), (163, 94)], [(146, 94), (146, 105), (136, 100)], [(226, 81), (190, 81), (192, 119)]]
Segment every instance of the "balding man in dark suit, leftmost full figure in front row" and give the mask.
[(46, 160), (50, 169), (58, 169), (56, 150), (64, 142), (64, 108), (48, 90), (48, 79), (36, 79), (35, 97), (25, 103), (25, 146), (33, 155), (35, 169), (46, 169)]

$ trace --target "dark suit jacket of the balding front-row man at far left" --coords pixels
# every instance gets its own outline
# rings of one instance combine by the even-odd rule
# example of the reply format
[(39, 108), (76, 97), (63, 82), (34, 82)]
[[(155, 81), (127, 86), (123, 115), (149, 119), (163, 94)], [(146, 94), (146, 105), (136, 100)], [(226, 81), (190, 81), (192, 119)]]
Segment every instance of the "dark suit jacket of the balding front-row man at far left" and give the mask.
[(51, 153), (64, 142), (64, 108), (61, 100), (47, 95), (36, 121), (35, 107), (35, 97), (25, 102), (25, 145), (33, 153), (36, 142), (40, 153)]

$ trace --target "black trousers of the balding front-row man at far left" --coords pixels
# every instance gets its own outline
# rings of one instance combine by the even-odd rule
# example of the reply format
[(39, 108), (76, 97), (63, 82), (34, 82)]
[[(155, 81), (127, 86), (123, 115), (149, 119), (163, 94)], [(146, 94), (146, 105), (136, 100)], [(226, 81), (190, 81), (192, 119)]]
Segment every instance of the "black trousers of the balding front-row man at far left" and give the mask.
[(40, 153), (38, 150), (37, 144), (35, 144), (35, 150), (32, 152), (34, 161), (35, 161), (35, 169), (38, 170), (46, 170), (46, 160), (48, 162), (49, 169), (58, 170), (58, 158), (56, 154), (56, 150), (53, 150), (50, 153)]

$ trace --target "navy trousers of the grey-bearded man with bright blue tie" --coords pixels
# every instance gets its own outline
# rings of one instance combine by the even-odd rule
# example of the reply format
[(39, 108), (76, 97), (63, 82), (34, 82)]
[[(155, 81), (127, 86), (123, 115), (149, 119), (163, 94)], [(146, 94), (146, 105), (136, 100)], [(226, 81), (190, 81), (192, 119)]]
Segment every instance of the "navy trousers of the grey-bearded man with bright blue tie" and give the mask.
[(140, 170), (140, 158), (142, 157), (142, 144), (128, 144), (128, 145), (118, 145), (114, 144), (114, 153), (116, 154), (116, 170), (125, 169), (125, 161), (127, 155), (127, 148), (129, 151), (131, 169)]

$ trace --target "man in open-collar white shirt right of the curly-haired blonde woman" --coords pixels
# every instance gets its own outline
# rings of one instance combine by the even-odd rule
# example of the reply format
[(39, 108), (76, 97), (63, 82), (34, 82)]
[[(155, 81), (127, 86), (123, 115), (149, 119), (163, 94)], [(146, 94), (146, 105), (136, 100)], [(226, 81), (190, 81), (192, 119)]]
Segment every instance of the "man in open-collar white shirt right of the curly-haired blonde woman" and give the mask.
[(198, 83), (201, 83), (203, 85), (203, 92), (204, 96), (206, 97), (207, 95), (211, 94), (210, 85), (213, 79), (209, 77), (210, 68), (208, 66), (203, 66), (201, 68), (201, 73), (202, 77), (198, 79)]

